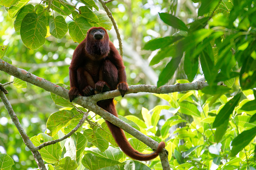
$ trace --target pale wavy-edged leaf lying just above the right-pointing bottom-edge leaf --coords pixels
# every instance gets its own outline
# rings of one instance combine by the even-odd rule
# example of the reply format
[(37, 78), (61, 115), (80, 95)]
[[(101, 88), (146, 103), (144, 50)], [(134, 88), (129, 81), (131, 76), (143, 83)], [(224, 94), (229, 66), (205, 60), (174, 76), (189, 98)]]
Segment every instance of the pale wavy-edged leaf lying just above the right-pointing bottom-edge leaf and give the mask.
[(109, 148), (104, 152), (101, 152), (98, 148), (90, 148), (90, 150), (87, 150), (87, 152), (93, 153), (98, 157), (109, 158), (117, 161), (123, 158), (123, 155), (124, 155), (124, 153), (120, 149), (116, 149), (112, 146), (109, 146)]

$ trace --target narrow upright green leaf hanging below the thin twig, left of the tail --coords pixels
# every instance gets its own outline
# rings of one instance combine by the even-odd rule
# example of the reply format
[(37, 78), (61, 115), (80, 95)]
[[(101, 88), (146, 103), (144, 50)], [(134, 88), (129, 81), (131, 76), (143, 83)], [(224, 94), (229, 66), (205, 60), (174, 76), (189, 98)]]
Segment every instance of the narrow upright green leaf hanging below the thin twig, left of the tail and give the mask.
[(75, 140), (75, 145), (76, 145), (75, 160), (76, 160), (77, 164), (79, 164), (82, 160), (83, 151), (84, 151), (84, 148), (86, 148), (88, 141), (87, 141), (86, 137), (82, 133), (79, 133), (79, 132), (77, 132), (76, 134), (73, 134), (72, 136)]

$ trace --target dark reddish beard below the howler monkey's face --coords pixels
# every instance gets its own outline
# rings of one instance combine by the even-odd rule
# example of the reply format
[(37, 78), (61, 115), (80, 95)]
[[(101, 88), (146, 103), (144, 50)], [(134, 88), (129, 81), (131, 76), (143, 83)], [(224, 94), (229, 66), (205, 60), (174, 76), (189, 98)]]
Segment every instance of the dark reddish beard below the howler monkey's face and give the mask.
[(109, 53), (109, 41), (95, 40), (87, 43), (86, 50), (92, 56), (105, 56)]

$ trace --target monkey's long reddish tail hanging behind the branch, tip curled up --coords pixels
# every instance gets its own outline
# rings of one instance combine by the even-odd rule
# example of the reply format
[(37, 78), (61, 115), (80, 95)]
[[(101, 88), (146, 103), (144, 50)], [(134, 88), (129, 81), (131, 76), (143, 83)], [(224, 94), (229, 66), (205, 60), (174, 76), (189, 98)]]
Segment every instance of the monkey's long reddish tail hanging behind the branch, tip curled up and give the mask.
[[(109, 99), (108, 99), (109, 100)], [(115, 115), (117, 117), (117, 112), (116, 112), (116, 108), (115, 108), (115, 104), (112, 100), (112, 102), (109, 102), (108, 105), (106, 105), (106, 100), (104, 104), (97, 103), (100, 107), (102, 107), (103, 109), (107, 110), (108, 112), (112, 113), (113, 115)], [(119, 128), (118, 126), (110, 123), (109, 121), (106, 121), (116, 143), (118, 144), (118, 146), (122, 149), (122, 151), (129, 157), (136, 159), (136, 160), (151, 160), (155, 157), (158, 156), (158, 153), (165, 147), (165, 143), (163, 141), (161, 141), (156, 149), (155, 152), (152, 152), (150, 154), (144, 154), (141, 153), (137, 150), (135, 150), (131, 144), (129, 143), (129, 141), (126, 139), (125, 133), (124, 131)]]

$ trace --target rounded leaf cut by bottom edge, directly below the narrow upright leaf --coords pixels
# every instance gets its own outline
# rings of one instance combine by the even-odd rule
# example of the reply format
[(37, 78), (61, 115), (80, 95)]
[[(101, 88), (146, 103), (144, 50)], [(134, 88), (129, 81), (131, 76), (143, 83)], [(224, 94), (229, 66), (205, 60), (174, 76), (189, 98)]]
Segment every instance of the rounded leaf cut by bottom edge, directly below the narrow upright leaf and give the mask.
[(60, 159), (55, 164), (55, 169), (73, 170), (78, 167), (75, 160), (71, 160), (69, 156)]

